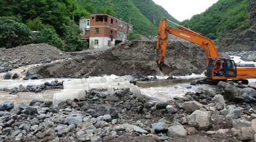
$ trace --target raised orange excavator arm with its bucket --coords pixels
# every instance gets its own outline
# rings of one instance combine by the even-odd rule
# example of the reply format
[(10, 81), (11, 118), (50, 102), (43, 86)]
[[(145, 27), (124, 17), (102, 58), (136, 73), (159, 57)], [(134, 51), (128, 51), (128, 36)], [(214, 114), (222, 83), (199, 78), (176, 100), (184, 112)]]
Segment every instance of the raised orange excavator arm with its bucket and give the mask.
[[(179, 26), (180, 29), (175, 29), (173, 27), (168, 26), (168, 22), (171, 22), (174, 25)], [(185, 30), (185, 31), (184, 31)], [(164, 63), (164, 57), (165, 57), (165, 51), (166, 51), (166, 45), (167, 45), (167, 38), (169, 34), (173, 34), (174, 36), (180, 37), (182, 39), (188, 40), (190, 42), (196, 43), (197, 45), (201, 46), (207, 55), (207, 64), (209, 63), (209, 60), (211, 57), (219, 57), (218, 51), (215, 48), (215, 45), (212, 40), (205, 38), (201, 36), (200, 33), (194, 32), (190, 29), (185, 28), (184, 26), (178, 25), (172, 21), (163, 19), (159, 23), (158, 28), (158, 34), (157, 34), (157, 50), (160, 50), (161, 57), (156, 60), (158, 67), (163, 72), (164, 68), (165, 71), (164, 74), (169, 74), (170, 72), (167, 72), (166, 69), (169, 68), (169, 70), (173, 70), (174, 67), (167, 66)], [(157, 51), (158, 52), (158, 51)], [(160, 63), (159, 63), (160, 61)], [(168, 70), (168, 69), (167, 69)]]

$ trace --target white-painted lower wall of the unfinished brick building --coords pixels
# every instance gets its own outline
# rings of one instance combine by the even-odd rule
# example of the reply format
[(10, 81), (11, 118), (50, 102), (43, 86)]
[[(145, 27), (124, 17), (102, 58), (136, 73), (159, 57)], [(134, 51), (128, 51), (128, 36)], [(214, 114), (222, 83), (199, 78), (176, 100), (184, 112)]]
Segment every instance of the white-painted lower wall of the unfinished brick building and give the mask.
[[(94, 40), (99, 40), (99, 45), (92, 45), (92, 41)], [(90, 43), (89, 43), (89, 48), (91, 49), (98, 49), (98, 48), (108, 48), (111, 46), (115, 46), (115, 39), (111, 41), (110, 46), (108, 46), (108, 41), (111, 41), (111, 38), (109, 37), (90, 37)]]

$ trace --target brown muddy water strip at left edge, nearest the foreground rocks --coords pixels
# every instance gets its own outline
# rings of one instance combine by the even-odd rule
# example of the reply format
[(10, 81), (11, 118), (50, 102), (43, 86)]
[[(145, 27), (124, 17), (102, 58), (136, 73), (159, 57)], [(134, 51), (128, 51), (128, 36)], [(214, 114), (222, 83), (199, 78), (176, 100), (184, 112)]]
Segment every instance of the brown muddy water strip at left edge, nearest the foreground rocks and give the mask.
[(9, 95), (9, 92), (0, 91), (0, 103), (13, 100), (14, 107), (18, 107), (21, 103), (29, 104), (32, 100), (52, 100), (53, 94), (61, 91), (60, 89), (55, 90), (46, 90), (43, 93), (34, 93), (34, 92), (19, 92), (17, 95)]

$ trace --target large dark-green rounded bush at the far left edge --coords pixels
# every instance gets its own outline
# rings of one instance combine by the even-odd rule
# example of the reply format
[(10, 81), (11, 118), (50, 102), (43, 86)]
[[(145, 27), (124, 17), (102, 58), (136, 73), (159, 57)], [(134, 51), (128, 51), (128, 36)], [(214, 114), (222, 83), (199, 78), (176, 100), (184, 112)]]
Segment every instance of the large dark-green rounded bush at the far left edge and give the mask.
[(15, 17), (0, 17), (0, 48), (26, 45), (31, 41), (28, 26), (19, 23)]

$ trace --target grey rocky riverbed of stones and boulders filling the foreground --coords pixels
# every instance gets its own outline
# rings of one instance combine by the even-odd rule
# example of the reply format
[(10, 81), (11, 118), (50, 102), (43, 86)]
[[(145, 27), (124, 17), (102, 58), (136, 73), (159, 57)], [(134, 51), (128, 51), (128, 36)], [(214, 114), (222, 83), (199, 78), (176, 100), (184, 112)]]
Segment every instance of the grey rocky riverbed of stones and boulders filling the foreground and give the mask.
[[(256, 129), (256, 83), (220, 82), (166, 102), (87, 92), (58, 105), (33, 100), (0, 104), (1, 139), (20, 141), (250, 141)], [(138, 140), (139, 141), (139, 140)]]

